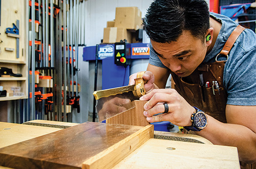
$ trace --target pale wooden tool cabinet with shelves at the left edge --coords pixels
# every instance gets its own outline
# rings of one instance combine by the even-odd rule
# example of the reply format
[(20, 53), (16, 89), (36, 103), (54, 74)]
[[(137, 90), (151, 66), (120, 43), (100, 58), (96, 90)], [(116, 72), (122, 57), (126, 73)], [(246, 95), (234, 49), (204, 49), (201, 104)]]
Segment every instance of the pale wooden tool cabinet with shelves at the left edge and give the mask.
[[(22, 74), (22, 77), (5, 75), (0, 77), (0, 86), (7, 90), (7, 96), (0, 97), (0, 101), (10, 101), (28, 98), (28, 18), (26, 14), (26, 1), (9, 0), (1, 2), (0, 22), (0, 67), (11, 68), (14, 74)], [(18, 22), (17, 22), (18, 20)], [(14, 25), (18, 23), (19, 35), (8, 36), (6, 30), (16, 31)], [(10, 29), (9, 29), (10, 30)], [(17, 45), (18, 37), (18, 45)], [(18, 46), (18, 48), (17, 48)], [(13, 50), (7, 50), (13, 49)], [(18, 55), (17, 55), (17, 53)], [(11, 87), (20, 87), (24, 95), (13, 96)]]

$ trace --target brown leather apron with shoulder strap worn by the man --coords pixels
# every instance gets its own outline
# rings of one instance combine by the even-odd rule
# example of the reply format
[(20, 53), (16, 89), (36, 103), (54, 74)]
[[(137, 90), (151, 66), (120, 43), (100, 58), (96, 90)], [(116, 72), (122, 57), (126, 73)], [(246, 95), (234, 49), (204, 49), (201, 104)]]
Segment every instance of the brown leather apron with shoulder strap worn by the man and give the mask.
[[(191, 106), (196, 106), (222, 123), (227, 122), (225, 115), (227, 93), (223, 87), (223, 70), (226, 61), (217, 61), (217, 59), (219, 55), (224, 55), (228, 58), (228, 53), (233, 43), (243, 30), (242, 26), (238, 26), (231, 33), (222, 51), (216, 56), (216, 62), (199, 65), (188, 77), (181, 78), (172, 71), (170, 72), (175, 82), (175, 89)], [(205, 86), (206, 82), (209, 82), (209, 86)], [(218, 83), (218, 88), (216, 82)], [(193, 131), (187, 133), (195, 134)], [(241, 168), (256, 168), (256, 163), (246, 164), (240, 162), (240, 166)]]

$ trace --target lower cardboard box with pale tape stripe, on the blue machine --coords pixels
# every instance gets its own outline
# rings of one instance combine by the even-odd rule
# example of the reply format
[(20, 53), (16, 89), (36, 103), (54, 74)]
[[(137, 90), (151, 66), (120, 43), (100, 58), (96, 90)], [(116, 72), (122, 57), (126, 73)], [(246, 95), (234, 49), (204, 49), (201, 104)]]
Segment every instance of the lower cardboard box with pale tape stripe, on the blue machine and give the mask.
[(103, 43), (115, 43), (126, 39), (127, 42), (132, 42), (131, 33), (125, 28), (104, 28)]

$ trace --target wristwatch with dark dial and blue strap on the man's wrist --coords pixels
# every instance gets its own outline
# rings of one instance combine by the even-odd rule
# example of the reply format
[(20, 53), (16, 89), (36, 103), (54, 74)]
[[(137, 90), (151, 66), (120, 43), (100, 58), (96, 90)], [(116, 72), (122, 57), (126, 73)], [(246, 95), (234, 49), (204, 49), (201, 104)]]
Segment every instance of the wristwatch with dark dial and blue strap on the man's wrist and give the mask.
[(194, 107), (196, 109), (196, 112), (194, 112), (191, 115), (191, 122), (192, 122), (192, 126), (185, 126), (184, 129), (186, 129), (187, 131), (191, 130), (191, 131), (201, 131), (203, 130), (208, 123), (208, 118), (206, 116), (206, 114)]

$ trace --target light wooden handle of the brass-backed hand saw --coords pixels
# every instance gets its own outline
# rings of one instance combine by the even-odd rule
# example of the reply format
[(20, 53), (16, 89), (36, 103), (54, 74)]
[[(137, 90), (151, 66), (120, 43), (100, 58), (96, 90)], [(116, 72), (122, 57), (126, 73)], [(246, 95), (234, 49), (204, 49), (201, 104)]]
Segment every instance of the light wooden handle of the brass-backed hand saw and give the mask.
[(146, 90), (144, 89), (144, 84), (146, 83), (146, 81), (142, 78), (144, 73), (145, 73), (145, 71), (140, 71), (137, 74), (137, 78), (134, 79), (135, 87), (134, 87), (133, 94), (135, 96), (137, 96), (138, 98), (140, 98), (142, 95), (146, 94)]

